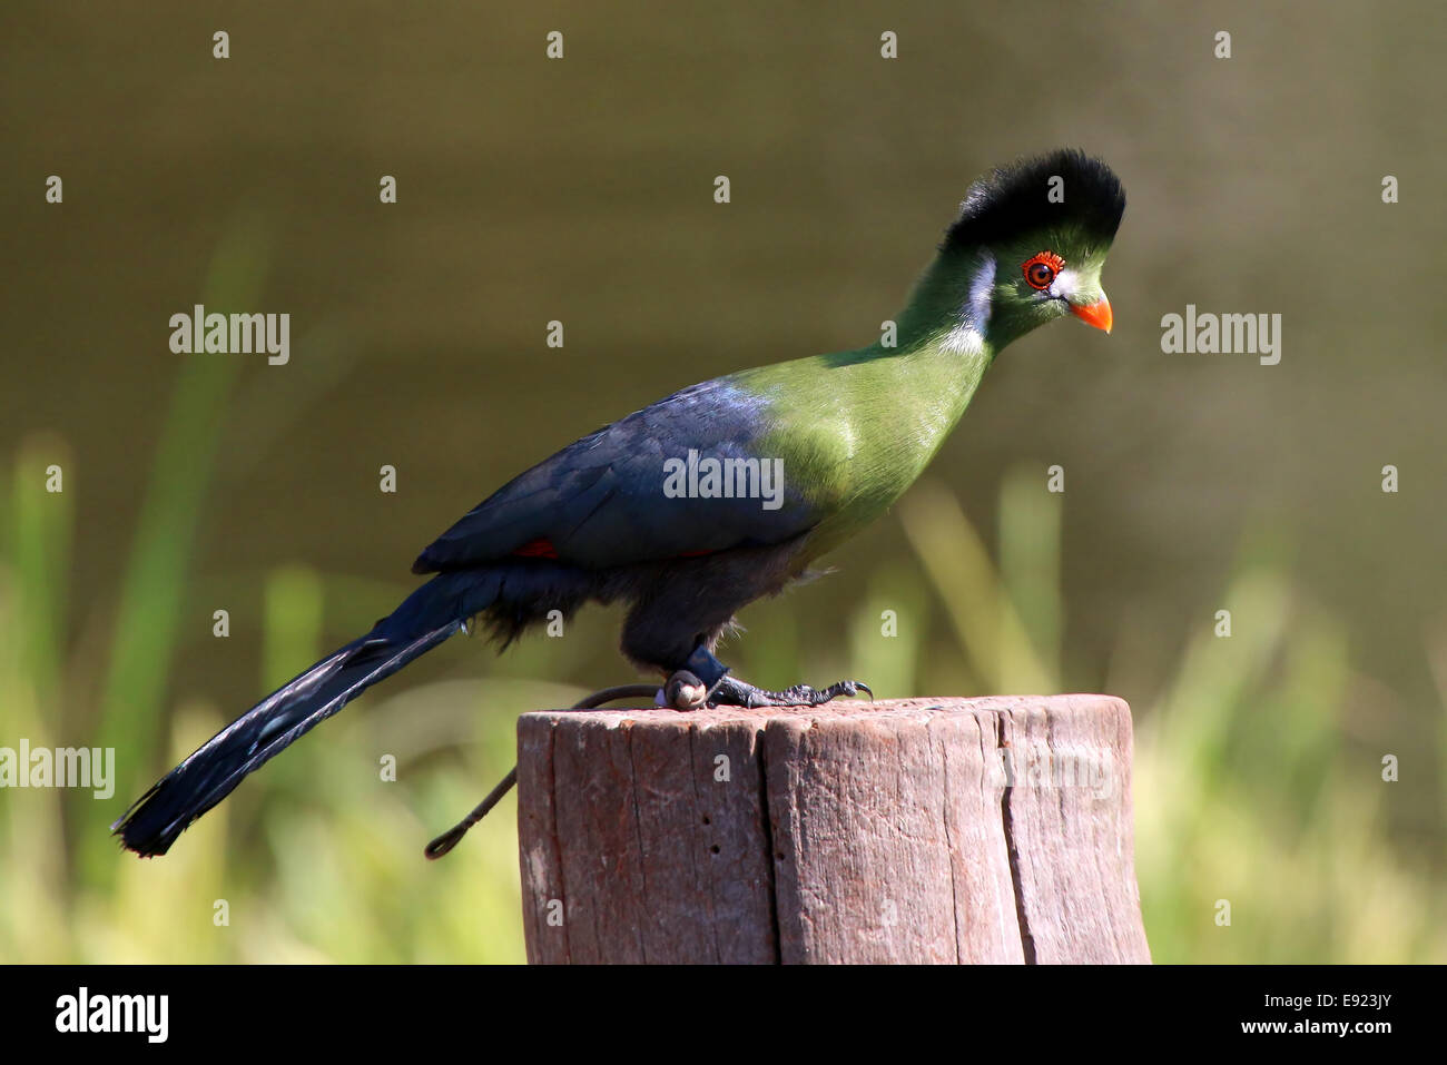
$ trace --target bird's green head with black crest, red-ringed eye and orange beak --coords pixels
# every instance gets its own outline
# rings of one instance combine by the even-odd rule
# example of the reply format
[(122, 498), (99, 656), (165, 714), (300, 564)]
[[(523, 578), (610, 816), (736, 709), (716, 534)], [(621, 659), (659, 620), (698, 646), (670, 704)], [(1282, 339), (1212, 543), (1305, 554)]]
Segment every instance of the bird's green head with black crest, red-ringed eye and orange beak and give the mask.
[(1100, 272), (1124, 210), (1110, 168), (1074, 149), (977, 181), (929, 279), (945, 343), (998, 352), (1066, 314), (1108, 333)]

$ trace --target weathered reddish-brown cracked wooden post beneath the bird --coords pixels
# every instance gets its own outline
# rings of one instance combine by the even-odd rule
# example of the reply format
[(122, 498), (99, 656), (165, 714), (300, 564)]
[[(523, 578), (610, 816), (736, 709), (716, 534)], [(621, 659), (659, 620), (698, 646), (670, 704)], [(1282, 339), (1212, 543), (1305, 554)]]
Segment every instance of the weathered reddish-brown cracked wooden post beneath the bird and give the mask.
[(518, 721), (531, 962), (1149, 962), (1103, 695)]

